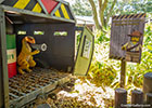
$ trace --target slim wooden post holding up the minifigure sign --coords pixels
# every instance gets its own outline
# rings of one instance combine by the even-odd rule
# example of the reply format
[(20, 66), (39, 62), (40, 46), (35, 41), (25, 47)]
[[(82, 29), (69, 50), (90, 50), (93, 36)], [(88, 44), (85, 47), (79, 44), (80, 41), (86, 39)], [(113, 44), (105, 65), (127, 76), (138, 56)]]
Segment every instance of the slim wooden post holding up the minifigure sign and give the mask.
[(126, 80), (126, 62), (124, 59), (121, 60), (121, 87), (125, 87)]

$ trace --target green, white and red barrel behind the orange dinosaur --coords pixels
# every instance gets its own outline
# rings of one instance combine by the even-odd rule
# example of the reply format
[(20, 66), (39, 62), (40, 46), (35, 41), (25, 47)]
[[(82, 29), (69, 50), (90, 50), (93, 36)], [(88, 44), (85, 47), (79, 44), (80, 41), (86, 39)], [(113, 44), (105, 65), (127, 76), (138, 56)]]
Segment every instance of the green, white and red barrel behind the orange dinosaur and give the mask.
[(9, 78), (16, 75), (16, 39), (15, 35), (7, 35), (7, 55)]

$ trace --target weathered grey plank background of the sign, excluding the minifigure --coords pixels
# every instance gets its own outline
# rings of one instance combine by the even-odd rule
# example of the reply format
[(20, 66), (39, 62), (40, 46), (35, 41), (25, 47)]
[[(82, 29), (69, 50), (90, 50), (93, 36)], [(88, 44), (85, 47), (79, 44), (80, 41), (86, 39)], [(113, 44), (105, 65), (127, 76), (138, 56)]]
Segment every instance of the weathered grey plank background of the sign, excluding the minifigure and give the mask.
[[(145, 14), (113, 16), (111, 26), (110, 58), (125, 58), (126, 51), (122, 50), (122, 45), (130, 41), (130, 37), (128, 35), (131, 35), (134, 31), (138, 30), (143, 33), (144, 21)], [(143, 40), (142, 36), (140, 38), (141, 45)], [(139, 57), (137, 56), (136, 58), (127, 59), (127, 62), (140, 63), (140, 59), (141, 52)]]

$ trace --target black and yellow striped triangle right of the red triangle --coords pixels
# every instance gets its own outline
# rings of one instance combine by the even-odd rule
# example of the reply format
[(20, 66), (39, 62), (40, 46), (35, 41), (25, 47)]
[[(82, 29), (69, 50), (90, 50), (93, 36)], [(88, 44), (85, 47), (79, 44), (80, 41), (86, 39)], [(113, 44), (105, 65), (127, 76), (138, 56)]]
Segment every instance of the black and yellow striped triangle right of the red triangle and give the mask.
[(53, 13), (53, 16), (63, 17), (67, 19), (74, 19), (68, 6), (63, 3), (61, 3), (60, 6), (55, 10), (55, 12)]

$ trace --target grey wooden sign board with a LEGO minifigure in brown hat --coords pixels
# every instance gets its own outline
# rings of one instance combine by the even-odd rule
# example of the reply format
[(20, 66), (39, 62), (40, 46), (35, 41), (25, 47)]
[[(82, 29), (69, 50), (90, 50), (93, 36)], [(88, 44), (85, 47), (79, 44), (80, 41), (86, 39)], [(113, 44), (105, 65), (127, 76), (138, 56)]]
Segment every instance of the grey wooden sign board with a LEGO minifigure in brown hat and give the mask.
[(112, 17), (110, 58), (140, 63), (145, 14)]

